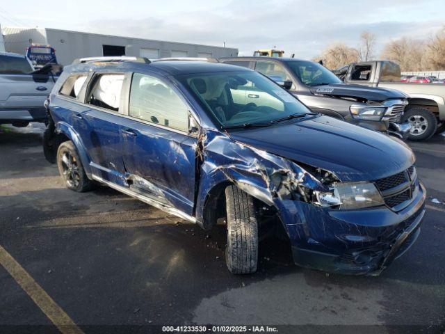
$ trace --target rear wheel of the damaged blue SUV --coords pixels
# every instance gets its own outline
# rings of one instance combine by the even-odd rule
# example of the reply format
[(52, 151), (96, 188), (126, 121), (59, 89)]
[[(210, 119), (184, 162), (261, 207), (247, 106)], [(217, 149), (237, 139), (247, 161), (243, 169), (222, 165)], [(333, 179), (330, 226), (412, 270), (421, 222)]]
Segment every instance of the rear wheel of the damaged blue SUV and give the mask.
[(57, 166), (68, 189), (81, 193), (92, 188), (92, 182), (88, 180), (83, 170), (81, 159), (72, 141), (65, 141), (58, 147)]

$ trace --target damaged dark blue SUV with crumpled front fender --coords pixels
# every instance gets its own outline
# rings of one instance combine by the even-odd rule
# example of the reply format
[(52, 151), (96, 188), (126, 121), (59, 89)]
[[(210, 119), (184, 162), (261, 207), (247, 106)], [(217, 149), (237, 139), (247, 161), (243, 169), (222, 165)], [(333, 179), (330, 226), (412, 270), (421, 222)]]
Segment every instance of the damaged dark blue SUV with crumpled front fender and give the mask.
[(90, 58), (47, 101), (44, 154), (66, 186), (111, 186), (204, 229), (227, 222), (232, 273), (280, 224), (302, 267), (378, 274), (420, 232), (414, 154), (314, 113), (262, 74), (206, 61)]

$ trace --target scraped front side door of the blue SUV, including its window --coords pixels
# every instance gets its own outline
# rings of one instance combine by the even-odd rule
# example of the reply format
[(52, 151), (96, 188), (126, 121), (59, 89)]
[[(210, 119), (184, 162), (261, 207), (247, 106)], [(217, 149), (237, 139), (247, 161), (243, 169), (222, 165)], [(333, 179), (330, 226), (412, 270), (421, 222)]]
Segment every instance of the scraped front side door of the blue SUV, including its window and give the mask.
[(197, 138), (189, 110), (170, 81), (134, 73), (121, 152), (133, 190), (191, 215)]

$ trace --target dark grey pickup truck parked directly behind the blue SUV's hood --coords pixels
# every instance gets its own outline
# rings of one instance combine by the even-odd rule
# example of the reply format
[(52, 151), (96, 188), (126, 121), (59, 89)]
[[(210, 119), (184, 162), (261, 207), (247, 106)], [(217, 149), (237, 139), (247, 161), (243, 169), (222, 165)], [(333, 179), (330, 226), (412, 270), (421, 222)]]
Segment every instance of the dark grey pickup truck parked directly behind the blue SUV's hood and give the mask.
[[(407, 96), (397, 90), (344, 84), (323, 65), (295, 58), (237, 57), (219, 61), (266, 75), (324, 115), (398, 138), (405, 138), (410, 129), (407, 123), (401, 124)], [(246, 99), (255, 103), (257, 94), (247, 92)]]

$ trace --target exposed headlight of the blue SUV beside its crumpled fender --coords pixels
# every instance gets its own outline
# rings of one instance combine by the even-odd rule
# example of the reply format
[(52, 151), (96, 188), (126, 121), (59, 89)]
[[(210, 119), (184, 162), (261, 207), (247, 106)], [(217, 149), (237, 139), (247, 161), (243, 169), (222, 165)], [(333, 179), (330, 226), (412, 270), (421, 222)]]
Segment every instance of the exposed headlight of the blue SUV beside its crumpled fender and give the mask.
[(322, 207), (339, 205), (339, 209), (360, 209), (385, 204), (382, 196), (372, 183), (339, 182), (333, 184), (331, 189), (332, 192), (316, 191), (317, 205)]

